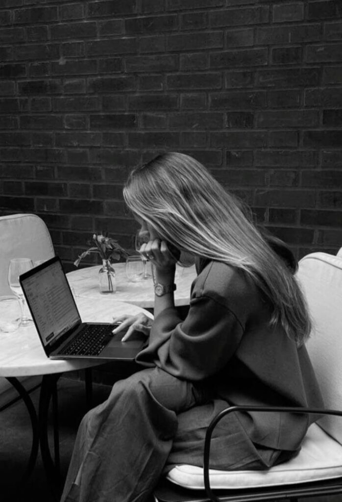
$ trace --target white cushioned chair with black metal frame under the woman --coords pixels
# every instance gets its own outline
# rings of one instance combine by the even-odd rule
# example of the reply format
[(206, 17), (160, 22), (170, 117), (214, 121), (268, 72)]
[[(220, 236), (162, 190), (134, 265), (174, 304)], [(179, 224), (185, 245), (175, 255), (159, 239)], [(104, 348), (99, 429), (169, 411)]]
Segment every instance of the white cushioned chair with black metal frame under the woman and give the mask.
[[(297, 279), (313, 319), (307, 349), (325, 412), (330, 414), (309, 427), (300, 453), (288, 462), (267, 471), (212, 470), (208, 467), (212, 430), (225, 414), (242, 408), (224, 410), (208, 428), (204, 469), (191, 465), (174, 467), (159, 482), (154, 492), (156, 502), (295, 502), (299, 497), (342, 493), (342, 412), (334, 411), (342, 410), (342, 257), (307, 255), (299, 262)], [(297, 413), (299, 410), (305, 411), (287, 408)]]

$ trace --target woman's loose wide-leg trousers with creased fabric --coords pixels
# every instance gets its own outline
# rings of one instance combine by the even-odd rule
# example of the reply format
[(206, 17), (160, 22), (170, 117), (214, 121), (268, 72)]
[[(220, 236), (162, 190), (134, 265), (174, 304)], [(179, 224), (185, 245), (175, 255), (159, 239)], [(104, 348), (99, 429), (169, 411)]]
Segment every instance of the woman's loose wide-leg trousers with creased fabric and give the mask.
[[(202, 465), (206, 427), (227, 407), (210, 395), (158, 367), (115, 383), (79, 426), (61, 502), (143, 502), (168, 465)], [(265, 463), (234, 415), (218, 427), (211, 466), (265, 468), (273, 452)]]

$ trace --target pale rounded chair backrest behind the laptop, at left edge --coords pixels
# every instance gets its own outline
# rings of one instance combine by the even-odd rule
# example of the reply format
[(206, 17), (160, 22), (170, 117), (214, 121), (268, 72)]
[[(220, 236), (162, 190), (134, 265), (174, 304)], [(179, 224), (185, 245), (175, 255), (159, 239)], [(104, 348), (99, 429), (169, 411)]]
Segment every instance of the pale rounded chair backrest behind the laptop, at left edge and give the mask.
[(49, 230), (35, 214), (0, 216), (0, 295), (13, 294), (8, 285), (11, 258), (48, 260), (55, 256)]

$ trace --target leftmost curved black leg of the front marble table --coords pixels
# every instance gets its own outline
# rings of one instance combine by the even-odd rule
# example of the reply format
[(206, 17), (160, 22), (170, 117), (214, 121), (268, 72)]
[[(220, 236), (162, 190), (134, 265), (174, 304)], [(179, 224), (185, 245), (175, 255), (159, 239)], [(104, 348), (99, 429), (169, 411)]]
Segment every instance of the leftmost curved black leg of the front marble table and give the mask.
[(28, 479), (29, 479), (34, 467), (35, 467), (37, 455), (38, 455), (38, 449), (39, 449), (38, 418), (37, 418), (37, 413), (36, 413), (35, 407), (32, 403), (32, 400), (29, 396), (29, 393), (27, 392), (25, 387), (14, 376), (7, 376), (6, 380), (16, 389), (19, 396), (24, 401), (26, 408), (29, 412), (30, 419), (31, 419), (31, 425), (32, 425), (32, 447), (31, 447), (30, 458), (29, 458), (27, 468), (23, 474), (22, 481), (20, 483), (21, 489), (24, 489), (25, 485), (26, 485), (26, 483), (27, 483), (27, 481), (28, 481)]

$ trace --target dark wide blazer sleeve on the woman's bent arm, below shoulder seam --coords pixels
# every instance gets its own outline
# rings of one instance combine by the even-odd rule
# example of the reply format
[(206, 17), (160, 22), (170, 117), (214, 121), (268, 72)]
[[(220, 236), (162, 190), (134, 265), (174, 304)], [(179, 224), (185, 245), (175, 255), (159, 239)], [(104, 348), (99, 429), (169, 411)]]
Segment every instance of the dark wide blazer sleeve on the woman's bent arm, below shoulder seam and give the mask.
[(236, 351), (244, 328), (236, 315), (210, 296), (196, 296), (182, 321), (175, 308), (160, 312), (138, 363), (159, 366), (178, 378), (199, 381), (220, 371)]

